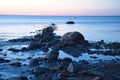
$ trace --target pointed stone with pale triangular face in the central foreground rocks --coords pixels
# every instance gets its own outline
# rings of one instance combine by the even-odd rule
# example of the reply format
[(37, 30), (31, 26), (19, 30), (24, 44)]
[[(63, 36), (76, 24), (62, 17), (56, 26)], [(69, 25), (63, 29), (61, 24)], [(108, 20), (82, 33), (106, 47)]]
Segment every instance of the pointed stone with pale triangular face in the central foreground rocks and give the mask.
[(80, 67), (80, 64), (73, 62), (69, 64), (67, 71), (71, 73), (77, 73), (80, 70), (79, 67)]

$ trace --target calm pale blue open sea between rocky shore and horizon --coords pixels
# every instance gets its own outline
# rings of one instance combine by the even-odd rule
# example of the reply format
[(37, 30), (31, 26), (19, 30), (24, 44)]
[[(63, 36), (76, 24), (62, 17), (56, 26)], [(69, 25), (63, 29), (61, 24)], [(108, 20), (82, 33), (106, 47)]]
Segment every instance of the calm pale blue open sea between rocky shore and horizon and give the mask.
[[(74, 21), (74, 25), (65, 24)], [(90, 41), (120, 42), (120, 16), (11, 16), (0, 15), (0, 40), (34, 35), (51, 23), (57, 24), (58, 35), (69, 31), (81, 32)]]

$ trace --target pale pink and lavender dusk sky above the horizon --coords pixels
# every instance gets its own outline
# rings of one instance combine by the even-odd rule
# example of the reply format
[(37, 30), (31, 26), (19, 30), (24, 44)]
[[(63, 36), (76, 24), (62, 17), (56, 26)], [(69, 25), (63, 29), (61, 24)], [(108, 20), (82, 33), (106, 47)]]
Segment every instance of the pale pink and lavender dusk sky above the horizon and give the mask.
[(120, 0), (0, 0), (0, 14), (120, 15)]

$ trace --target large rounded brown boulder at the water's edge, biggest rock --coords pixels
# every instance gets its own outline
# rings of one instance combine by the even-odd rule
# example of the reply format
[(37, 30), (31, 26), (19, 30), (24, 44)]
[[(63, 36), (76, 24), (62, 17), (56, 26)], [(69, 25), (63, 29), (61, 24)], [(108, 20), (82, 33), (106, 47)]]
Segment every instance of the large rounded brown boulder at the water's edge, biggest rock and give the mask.
[(84, 36), (79, 32), (68, 32), (63, 35), (63, 45), (82, 44), (85, 42)]

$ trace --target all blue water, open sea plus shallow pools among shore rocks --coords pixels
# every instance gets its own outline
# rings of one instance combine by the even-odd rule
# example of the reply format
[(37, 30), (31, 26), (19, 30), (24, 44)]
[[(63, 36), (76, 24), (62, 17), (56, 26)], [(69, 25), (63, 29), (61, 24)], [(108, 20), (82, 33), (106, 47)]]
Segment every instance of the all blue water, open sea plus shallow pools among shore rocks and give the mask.
[[(66, 24), (74, 21), (75, 24)], [(56, 35), (64, 35), (67, 32), (78, 31), (88, 41), (120, 42), (120, 16), (25, 16), (25, 15), (0, 15), (0, 58), (10, 62), (0, 63), (0, 79), (27, 76), (29, 80), (34, 76), (29, 73), (29, 62), (31, 59), (45, 57), (46, 52), (40, 49), (13, 52), (9, 49), (22, 49), (28, 47), (29, 42), (8, 42), (10, 39), (30, 37), (37, 30), (56, 24)], [(49, 48), (49, 51), (51, 48)], [(109, 49), (90, 49), (91, 51), (108, 51)], [(120, 56), (80, 53), (79, 57), (73, 57), (59, 50), (59, 59), (71, 58), (80, 62), (86, 60), (89, 63), (102, 61), (118, 61)], [(92, 58), (95, 56), (96, 58)], [(31, 59), (30, 59), (31, 58)], [(11, 63), (20, 62), (21, 67), (11, 66)], [(23, 66), (27, 65), (27, 66)], [(43, 64), (42, 64), (43, 65)], [(41, 65), (41, 66), (42, 66)], [(30, 68), (30, 70), (32, 70)], [(31, 78), (31, 79), (30, 79)]]

